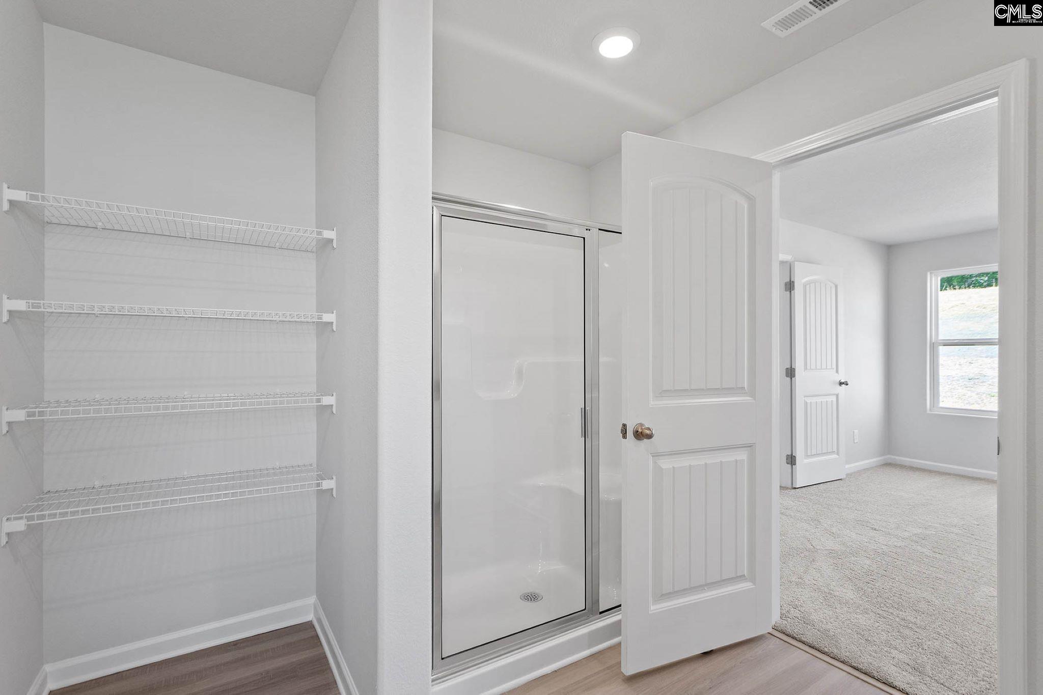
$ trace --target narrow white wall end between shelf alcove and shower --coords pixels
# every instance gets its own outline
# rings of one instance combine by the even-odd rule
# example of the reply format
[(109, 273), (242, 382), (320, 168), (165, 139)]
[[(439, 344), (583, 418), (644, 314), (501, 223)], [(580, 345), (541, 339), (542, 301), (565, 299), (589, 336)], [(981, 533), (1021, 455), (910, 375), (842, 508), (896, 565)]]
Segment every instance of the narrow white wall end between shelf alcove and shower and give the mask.
[(378, 691), (431, 688), (432, 0), (380, 0)]

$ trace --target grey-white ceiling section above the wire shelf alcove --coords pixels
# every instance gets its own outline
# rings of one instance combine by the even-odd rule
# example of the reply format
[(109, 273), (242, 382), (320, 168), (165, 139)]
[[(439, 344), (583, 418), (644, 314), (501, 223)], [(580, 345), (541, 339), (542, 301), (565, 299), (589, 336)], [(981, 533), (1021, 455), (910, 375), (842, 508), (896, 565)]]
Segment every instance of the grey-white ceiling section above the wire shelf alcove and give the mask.
[(44, 21), (315, 94), (355, 0), (35, 0)]

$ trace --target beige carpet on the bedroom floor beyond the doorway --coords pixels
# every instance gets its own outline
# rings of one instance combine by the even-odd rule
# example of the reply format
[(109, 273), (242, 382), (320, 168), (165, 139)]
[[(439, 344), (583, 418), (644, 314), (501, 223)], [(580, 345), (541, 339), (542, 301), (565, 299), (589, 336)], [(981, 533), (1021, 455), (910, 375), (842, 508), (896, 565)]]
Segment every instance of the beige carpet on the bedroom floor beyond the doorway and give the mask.
[(909, 695), (996, 693), (996, 483), (887, 464), (783, 489), (776, 629)]

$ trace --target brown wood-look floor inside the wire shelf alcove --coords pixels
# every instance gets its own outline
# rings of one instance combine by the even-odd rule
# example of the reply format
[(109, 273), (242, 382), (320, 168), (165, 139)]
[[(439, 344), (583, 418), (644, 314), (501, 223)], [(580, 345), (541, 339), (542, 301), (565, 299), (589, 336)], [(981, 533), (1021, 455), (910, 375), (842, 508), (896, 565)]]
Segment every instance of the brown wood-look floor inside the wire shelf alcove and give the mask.
[(51, 695), (338, 695), (322, 643), (301, 623), (121, 671)]

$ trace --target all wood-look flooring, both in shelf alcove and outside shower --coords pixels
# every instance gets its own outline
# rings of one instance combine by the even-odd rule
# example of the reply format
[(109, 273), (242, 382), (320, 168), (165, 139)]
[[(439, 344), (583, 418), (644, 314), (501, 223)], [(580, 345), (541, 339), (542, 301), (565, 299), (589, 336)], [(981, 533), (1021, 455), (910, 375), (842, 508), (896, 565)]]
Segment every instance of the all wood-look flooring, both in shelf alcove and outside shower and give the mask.
[[(773, 635), (624, 676), (618, 645), (512, 691), (516, 695), (881, 695)], [(894, 692), (894, 691), (892, 691)], [(81, 682), (52, 695), (337, 695), (311, 623)]]

